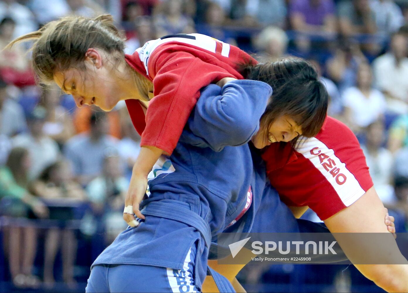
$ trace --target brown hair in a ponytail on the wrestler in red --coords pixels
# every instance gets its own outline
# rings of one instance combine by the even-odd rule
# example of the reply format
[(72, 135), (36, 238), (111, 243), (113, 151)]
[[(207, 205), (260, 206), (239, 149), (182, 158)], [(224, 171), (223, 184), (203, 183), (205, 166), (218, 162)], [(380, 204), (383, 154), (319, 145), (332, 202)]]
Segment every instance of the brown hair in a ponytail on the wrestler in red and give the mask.
[(102, 49), (118, 62), (124, 60), (124, 37), (109, 14), (94, 19), (81, 16), (60, 18), (38, 31), (16, 38), (6, 48), (30, 40), (34, 40), (31, 47), (33, 69), (42, 84), (52, 83), (57, 70), (84, 69), (83, 61), (89, 48)]

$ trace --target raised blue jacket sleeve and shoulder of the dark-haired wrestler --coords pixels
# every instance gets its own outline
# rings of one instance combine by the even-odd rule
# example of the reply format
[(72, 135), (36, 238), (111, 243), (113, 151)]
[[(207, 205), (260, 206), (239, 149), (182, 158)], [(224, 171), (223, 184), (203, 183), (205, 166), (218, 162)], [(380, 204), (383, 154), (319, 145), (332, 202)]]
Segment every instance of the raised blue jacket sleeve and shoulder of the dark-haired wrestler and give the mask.
[(221, 151), (247, 143), (259, 129), (272, 88), (256, 80), (235, 80), (205, 87), (180, 139)]

